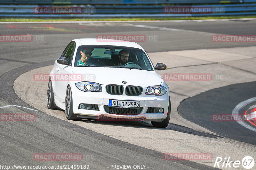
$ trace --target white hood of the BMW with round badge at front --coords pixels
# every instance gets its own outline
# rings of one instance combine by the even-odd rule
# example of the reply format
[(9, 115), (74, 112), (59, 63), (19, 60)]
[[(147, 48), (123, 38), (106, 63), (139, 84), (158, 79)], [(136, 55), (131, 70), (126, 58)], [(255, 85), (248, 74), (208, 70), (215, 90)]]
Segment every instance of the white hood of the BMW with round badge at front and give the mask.
[[(75, 74), (82, 74), (83, 81), (100, 83), (101, 85), (119, 84), (148, 87), (161, 85), (163, 79), (155, 71), (130, 68), (111, 67), (74, 67)], [(122, 83), (126, 81), (126, 83)]]

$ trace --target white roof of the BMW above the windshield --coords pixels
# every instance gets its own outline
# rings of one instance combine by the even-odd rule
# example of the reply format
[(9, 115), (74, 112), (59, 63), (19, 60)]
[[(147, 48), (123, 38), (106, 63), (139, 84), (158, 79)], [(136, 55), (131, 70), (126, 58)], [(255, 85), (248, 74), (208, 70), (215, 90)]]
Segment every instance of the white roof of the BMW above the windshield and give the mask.
[(74, 39), (80, 41), (80, 46), (83, 45), (107, 45), (107, 46), (125, 46), (143, 49), (139, 44), (130, 41), (119, 41), (116, 39)]

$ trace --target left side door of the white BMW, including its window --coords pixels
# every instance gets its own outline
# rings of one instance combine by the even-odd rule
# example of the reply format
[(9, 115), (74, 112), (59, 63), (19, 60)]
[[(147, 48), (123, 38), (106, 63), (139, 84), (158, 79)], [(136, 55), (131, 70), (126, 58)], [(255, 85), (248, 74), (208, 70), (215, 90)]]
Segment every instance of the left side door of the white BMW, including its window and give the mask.
[[(68, 61), (71, 64), (71, 66), (72, 66), (72, 63), (71, 63), (72, 58), (75, 53), (75, 48), (76, 48), (76, 43), (74, 41), (71, 41), (61, 55), (61, 57), (68, 58)], [(68, 86), (68, 77), (73, 74), (71, 66), (57, 63), (56, 70), (57, 70), (57, 75), (59, 76), (58, 76), (58, 79), (56, 77), (56, 82), (55, 82), (56, 95), (55, 96), (60, 100), (60, 102), (65, 102), (66, 89)]]

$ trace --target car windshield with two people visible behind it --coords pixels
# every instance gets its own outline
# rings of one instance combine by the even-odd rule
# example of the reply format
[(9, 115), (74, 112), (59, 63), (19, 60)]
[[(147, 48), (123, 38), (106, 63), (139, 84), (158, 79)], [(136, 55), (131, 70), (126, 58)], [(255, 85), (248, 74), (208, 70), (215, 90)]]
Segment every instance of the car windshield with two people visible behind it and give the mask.
[(123, 46), (79, 46), (75, 67), (118, 67), (153, 71), (141, 49)]

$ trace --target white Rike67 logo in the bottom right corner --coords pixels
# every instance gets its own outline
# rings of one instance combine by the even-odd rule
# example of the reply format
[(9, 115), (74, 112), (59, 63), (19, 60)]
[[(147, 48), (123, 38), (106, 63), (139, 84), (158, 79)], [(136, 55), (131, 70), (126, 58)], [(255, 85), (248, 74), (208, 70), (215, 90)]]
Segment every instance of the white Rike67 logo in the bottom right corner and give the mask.
[(251, 169), (254, 166), (254, 159), (251, 156), (245, 156), (242, 161), (240, 160), (230, 160), (230, 157), (225, 157), (222, 159), (221, 157), (217, 157), (214, 163), (215, 167), (222, 167), (222, 168), (238, 168), (240, 165), (242, 165), (245, 169)]

